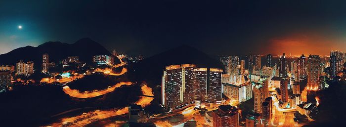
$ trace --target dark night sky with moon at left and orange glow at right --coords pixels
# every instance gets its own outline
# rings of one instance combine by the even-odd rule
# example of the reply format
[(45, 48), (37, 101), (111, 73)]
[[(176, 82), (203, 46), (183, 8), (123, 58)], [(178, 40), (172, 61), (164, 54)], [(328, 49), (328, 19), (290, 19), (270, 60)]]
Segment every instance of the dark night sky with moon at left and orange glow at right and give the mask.
[(89, 37), (144, 56), (181, 44), (222, 55), (328, 55), (346, 51), (345, 28), (346, 0), (0, 0), (0, 53)]

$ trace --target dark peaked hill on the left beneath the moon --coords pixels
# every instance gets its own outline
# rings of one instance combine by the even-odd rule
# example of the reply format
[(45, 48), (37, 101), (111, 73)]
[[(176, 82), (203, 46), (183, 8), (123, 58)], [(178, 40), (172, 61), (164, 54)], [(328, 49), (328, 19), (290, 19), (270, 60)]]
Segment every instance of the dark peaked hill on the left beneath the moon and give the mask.
[[(111, 53), (97, 42), (83, 38), (73, 44), (62, 42), (45, 42), (37, 47), (26, 46), (14, 49), (0, 55), (0, 65), (15, 65), (17, 61), (34, 61), (35, 68), (41, 69), (42, 55), (48, 53), (49, 62), (58, 63), (68, 56), (79, 56), (80, 61), (91, 63), (93, 55), (111, 55)], [(115, 63), (120, 63), (115, 59)]]

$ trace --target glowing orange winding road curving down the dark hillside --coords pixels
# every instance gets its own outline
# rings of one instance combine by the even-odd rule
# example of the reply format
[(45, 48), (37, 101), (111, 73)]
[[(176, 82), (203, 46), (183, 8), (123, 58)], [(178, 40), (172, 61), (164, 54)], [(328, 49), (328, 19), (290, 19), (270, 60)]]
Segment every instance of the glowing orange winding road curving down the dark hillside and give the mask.
[[(116, 68), (116, 67), (120, 67), (120, 66), (125, 65), (125, 62), (122, 61), (121, 58), (120, 58), (120, 61), (121, 61), (120, 64), (114, 65), (113, 67)], [(127, 69), (123, 68), (122, 72), (118, 73), (118, 74), (112, 73), (111, 69), (109, 69), (109, 70), (105, 69), (102, 71), (104, 74), (108, 74), (108, 75), (112, 75), (112, 76), (120, 76), (120, 75), (125, 74), (127, 72)], [(96, 96), (106, 94), (108, 92), (112, 92), (116, 88), (118, 88), (122, 85), (132, 85), (132, 83), (131, 82), (121, 82), (121, 83), (113, 85), (112, 87), (109, 87), (107, 89), (95, 91), (95, 92), (79, 92), (76, 89), (71, 89), (69, 86), (64, 86), (63, 91), (66, 94), (73, 96), (73, 97), (76, 97), (76, 98), (91, 98), (91, 97), (96, 97)], [(148, 87), (146, 84), (142, 84), (141, 90), (142, 90), (143, 96), (141, 96), (139, 98), (139, 100), (136, 101), (135, 103), (137, 105), (141, 105), (142, 107), (145, 107), (145, 106), (149, 105), (151, 103), (151, 101), (154, 100), (154, 98), (153, 98), (154, 94), (152, 92), (152, 89), (150, 87)], [(127, 114), (128, 112), (129, 112), (128, 107), (124, 107), (121, 109), (111, 109), (111, 110), (95, 110), (95, 111), (83, 113), (82, 115), (69, 117), (69, 118), (63, 118), (63, 119), (61, 119), (60, 122), (53, 123), (47, 127), (83, 127), (83, 126), (86, 126), (87, 124), (90, 124), (92, 122), (99, 121), (102, 119), (107, 119), (107, 118), (118, 116), (118, 115), (124, 115), (124, 114)]]

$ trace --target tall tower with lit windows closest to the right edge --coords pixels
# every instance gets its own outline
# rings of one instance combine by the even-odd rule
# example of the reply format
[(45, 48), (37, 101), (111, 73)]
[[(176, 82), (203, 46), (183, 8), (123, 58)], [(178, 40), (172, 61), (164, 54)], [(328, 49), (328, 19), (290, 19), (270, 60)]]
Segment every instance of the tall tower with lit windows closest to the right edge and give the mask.
[(330, 68), (331, 68), (332, 76), (336, 76), (337, 72), (343, 70), (344, 62), (345, 62), (344, 52), (341, 52), (341, 51), (330, 52)]

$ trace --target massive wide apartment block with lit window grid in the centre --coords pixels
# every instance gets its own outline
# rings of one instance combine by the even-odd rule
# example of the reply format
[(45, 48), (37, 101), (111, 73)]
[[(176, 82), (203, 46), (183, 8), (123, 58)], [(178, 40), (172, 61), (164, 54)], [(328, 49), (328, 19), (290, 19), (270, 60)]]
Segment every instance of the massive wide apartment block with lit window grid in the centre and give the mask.
[(179, 108), (201, 102), (221, 103), (221, 69), (193, 64), (167, 66), (162, 77), (162, 104)]

